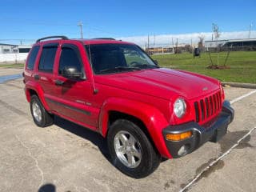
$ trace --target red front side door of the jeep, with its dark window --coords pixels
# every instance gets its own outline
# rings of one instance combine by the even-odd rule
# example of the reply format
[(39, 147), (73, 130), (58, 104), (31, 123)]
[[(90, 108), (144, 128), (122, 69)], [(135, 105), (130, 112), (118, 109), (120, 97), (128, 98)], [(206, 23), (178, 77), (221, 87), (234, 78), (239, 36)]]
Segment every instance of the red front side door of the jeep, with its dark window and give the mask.
[[(51, 100), (50, 102), (54, 106), (58, 106), (58, 111), (56, 112), (64, 116), (64, 118), (95, 130), (98, 126), (99, 110), (92, 106), (94, 92), (91, 82), (86, 77), (86, 70), (80, 54), (82, 48), (79, 42), (62, 44), (57, 66), (58, 74), (54, 78), (54, 90), (57, 93), (57, 98), (55, 101)], [(76, 68), (78, 72), (82, 72), (83, 78), (68, 79), (63, 77), (62, 70), (65, 67)]]

